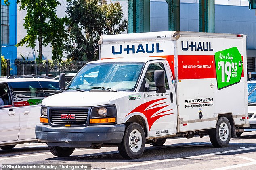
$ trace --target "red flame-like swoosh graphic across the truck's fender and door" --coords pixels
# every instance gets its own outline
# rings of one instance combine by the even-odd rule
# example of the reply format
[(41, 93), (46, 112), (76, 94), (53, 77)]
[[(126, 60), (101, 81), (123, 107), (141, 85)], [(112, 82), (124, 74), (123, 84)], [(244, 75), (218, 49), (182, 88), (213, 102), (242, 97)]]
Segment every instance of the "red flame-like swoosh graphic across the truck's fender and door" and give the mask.
[[(163, 103), (159, 103), (159, 104), (155, 104), (151, 107), (149, 107), (151, 104), (155, 103), (155, 102), (158, 102), (158, 101), (161, 101), (161, 100), (165, 100), (166, 98), (160, 98), (160, 99), (155, 99), (155, 100), (151, 100), (149, 102), (146, 102), (146, 103), (143, 103), (141, 105), (139, 105), (138, 107), (136, 107), (135, 109), (133, 109), (130, 113), (128, 113), (126, 116), (130, 115), (131, 113), (134, 113), (134, 112), (140, 112), (142, 113), (143, 115), (145, 115), (145, 117), (147, 117), (147, 121), (149, 123), (149, 131), (153, 125), (153, 123), (155, 123), (155, 121), (157, 121), (157, 119), (163, 117), (163, 116), (166, 116), (166, 115), (172, 115), (174, 113), (166, 113), (164, 115), (159, 115), (161, 113), (164, 113), (164, 112), (168, 112), (168, 111), (171, 111), (173, 109), (170, 109), (170, 110), (166, 110), (166, 111), (162, 111), (160, 113), (157, 113), (157, 111), (165, 108), (165, 107), (168, 107), (170, 104), (168, 105), (164, 105), (164, 106), (159, 106), (159, 107), (155, 107), (155, 106), (158, 106), (160, 104), (164, 104), (166, 102), (163, 102)], [(149, 107), (149, 108), (148, 108)], [(155, 107), (155, 108), (152, 108), (152, 107)], [(151, 108), (151, 109), (150, 109)], [(146, 110), (147, 109), (147, 110)], [(155, 113), (157, 113), (157, 115), (154, 115)], [(154, 116), (153, 116), (154, 115)], [(153, 116), (153, 117), (152, 117)]]

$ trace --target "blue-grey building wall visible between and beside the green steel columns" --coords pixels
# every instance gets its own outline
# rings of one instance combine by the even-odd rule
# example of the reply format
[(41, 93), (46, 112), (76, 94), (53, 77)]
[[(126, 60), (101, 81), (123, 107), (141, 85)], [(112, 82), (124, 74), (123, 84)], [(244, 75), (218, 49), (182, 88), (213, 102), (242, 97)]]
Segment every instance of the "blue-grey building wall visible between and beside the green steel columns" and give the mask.
[[(180, 30), (198, 31), (198, 4), (180, 3)], [(151, 31), (168, 31), (168, 5), (151, 1)], [(248, 6), (215, 5), (215, 32), (247, 35), (247, 48), (256, 49), (255, 10)]]

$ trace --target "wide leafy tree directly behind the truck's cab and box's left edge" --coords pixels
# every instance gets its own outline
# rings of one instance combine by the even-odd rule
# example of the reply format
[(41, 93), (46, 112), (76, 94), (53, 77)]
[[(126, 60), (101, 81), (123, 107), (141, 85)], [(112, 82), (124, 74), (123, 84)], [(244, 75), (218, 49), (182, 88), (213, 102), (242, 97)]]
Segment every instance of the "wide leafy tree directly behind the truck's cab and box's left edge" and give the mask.
[(119, 34), (126, 29), (119, 2), (107, 0), (67, 0), (68, 15), (65, 50), (68, 58), (92, 61), (97, 58), (98, 41), (104, 34)]

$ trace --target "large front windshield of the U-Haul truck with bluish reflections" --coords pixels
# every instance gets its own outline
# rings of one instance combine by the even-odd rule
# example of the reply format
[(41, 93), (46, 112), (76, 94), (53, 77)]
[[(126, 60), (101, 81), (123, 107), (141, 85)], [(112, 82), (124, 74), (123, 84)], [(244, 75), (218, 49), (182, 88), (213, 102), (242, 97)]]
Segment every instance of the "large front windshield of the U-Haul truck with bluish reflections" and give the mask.
[(143, 64), (122, 62), (86, 64), (66, 89), (134, 91)]

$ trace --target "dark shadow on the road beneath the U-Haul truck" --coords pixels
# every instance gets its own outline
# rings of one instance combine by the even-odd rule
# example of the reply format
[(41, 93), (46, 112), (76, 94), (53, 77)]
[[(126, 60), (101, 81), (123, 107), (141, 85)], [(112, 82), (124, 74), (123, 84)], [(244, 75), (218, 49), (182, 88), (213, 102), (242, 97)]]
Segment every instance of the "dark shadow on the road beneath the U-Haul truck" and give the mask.
[[(67, 158), (48, 158), (46, 160), (54, 160), (54, 161), (74, 161), (74, 162), (147, 162), (154, 160), (164, 160), (164, 159), (176, 159), (183, 158), (186, 159), (190, 156), (198, 156), (204, 154), (212, 154), (216, 152), (225, 152), (229, 150), (239, 150), (240, 147), (256, 147), (255, 143), (230, 143), (228, 147), (225, 148), (216, 148), (213, 147), (212, 144), (205, 142), (197, 142), (197, 143), (179, 143), (175, 145), (163, 145), (161, 147), (153, 147), (147, 146), (145, 151), (140, 159), (136, 160), (126, 160), (120, 156), (118, 151), (111, 152), (101, 152), (101, 153), (93, 153), (93, 154), (84, 154), (84, 155), (71, 155)], [(255, 152), (254, 150), (244, 150), (237, 151), (227, 154), (241, 154), (241, 153), (249, 153)], [(220, 153), (221, 154), (221, 153)], [(189, 158), (187, 158), (189, 159)], [(203, 159), (203, 157), (199, 157), (196, 159)]]

